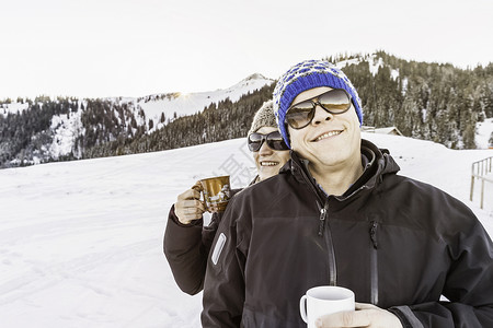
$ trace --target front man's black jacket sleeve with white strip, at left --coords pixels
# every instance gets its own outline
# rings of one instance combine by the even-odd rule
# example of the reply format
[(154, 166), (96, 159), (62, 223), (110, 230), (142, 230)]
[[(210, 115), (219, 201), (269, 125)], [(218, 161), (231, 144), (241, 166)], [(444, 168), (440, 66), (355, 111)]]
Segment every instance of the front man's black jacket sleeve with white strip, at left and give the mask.
[(236, 215), (228, 206), (207, 262), (203, 327), (240, 327), (244, 303), (244, 255), (238, 250)]

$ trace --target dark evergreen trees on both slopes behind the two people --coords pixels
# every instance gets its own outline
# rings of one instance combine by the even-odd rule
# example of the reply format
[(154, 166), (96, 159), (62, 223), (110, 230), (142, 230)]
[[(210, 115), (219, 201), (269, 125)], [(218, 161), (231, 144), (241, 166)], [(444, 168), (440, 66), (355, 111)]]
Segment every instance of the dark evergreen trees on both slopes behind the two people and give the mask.
[[(433, 140), (452, 149), (475, 148), (475, 124), (493, 117), (493, 63), (473, 69), (451, 65), (416, 62), (379, 51), (376, 56), (337, 56), (339, 62), (359, 58), (343, 71), (356, 86), (363, 102), (364, 124), (395, 126), (404, 136)], [(383, 63), (375, 74), (367, 60)], [(254, 113), (272, 96), (274, 84), (242, 96), (197, 108), (191, 116), (167, 118), (162, 128), (149, 133), (154, 122), (144, 110), (112, 99), (38, 97), (18, 114), (0, 112), (0, 167), (22, 165), (33, 156), (41, 162), (91, 159), (174, 149), (245, 137)], [(148, 96), (152, 101), (179, 94)], [(0, 109), (3, 104), (0, 102)], [(80, 108), (81, 133), (72, 152), (51, 159), (47, 144), (54, 115), (71, 115)], [(164, 116), (161, 124), (164, 124)], [(493, 132), (490, 142), (493, 143)], [(12, 162), (18, 160), (18, 162)], [(19, 164), (16, 164), (19, 163)]]

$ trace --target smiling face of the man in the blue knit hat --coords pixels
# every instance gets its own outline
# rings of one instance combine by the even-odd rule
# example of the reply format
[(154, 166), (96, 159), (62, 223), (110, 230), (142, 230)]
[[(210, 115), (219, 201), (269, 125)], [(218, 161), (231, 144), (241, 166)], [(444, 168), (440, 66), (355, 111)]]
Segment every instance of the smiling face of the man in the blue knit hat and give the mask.
[[(318, 96), (329, 90), (320, 86), (298, 94), (291, 104)], [(344, 114), (332, 115), (317, 106), (312, 121), (296, 130), (288, 127), (291, 149), (311, 165), (337, 168), (360, 159), (359, 120), (354, 106)]]

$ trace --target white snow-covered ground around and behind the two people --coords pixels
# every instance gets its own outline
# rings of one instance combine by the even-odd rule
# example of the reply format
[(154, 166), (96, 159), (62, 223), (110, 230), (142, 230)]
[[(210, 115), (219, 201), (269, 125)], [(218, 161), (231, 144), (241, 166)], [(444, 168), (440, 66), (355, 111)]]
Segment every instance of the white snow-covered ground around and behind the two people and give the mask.
[[(493, 150), (364, 133), (403, 175), (471, 207), (493, 235), (493, 184), (469, 201), (471, 163)], [(245, 139), (156, 153), (0, 171), (1, 327), (200, 327), (162, 254), (168, 210), (196, 179), (254, 172)]]

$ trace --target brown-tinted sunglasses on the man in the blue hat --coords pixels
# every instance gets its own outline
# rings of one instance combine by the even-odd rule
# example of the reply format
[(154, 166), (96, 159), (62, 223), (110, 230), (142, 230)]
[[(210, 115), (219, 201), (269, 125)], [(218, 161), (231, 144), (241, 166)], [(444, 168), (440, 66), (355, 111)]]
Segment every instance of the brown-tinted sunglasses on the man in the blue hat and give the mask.
[(317, 105), (332, 115), (343, 114), (351, 108), (351, 95), (344, 89), (333, 89), (291, 105), (286, 112), (285, 124), (297, 130), (305, 128), (313, 119)]

